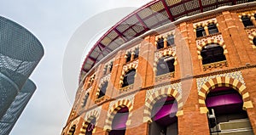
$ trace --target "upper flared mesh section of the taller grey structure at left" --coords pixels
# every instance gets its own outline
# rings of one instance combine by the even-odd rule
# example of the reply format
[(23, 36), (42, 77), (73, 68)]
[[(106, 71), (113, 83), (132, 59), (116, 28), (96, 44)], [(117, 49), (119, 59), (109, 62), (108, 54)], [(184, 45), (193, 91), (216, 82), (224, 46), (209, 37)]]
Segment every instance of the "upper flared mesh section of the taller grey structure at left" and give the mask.
[(36, 37), (11, 20), (0, 17), (0, 72), (22, 87), (44, 55)]

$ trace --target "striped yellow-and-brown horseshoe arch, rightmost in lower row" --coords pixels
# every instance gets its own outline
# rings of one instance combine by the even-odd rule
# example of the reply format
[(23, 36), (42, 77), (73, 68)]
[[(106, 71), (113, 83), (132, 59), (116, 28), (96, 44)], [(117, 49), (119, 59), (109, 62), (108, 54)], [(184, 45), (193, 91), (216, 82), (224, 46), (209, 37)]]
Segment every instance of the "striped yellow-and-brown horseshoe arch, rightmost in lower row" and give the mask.
[(212, 89), (215, 87), (232, 87), (238, 93), (241, 94), (243, 100), (243, 110), (247, 110), (248, 108), (253, 108), (253, 103), (250, 99), (250, 95), (247, 92), (246, 86), (238, 81), (237, 79), (233, 79), (226, 76), (219, 76), (216, 78), (210, 79), (208, 82), (204, 83), (201, 87), (201, 90), (198, 92), (199, 97), (199, 106), (201, 114), (207, 113), (207, 105), (206, 105), (206, 98), (207, 93), (210, 93)]

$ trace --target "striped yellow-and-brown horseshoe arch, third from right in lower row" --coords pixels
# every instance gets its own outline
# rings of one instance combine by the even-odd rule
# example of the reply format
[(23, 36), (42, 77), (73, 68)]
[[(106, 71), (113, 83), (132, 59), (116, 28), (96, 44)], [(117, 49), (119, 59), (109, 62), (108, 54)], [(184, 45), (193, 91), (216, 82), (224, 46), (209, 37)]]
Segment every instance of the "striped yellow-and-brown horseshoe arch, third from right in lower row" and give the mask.
[(115, 104), (113, 104), (110, 109), (108, 110), (108, 117), (107, 120), (105, 121), (105, 126), (104, 126), (104, 131), (110, 131), (112, 130), (112, 122), (113, 122), (113, 118), (114, 115), (116, 115), (118, 113), (119, 110), (121, 110), (122, 108), (127, 107), (129, 110), (129, 115), (128, 115), (128, 120), (126, 121), (126, 126), (131, 124), (131, 110), (133, 108), (133, 105), (131, 103), (131, 101), (129, 99), (122, 99), (119, 100), (118, 102), (116, 102)]

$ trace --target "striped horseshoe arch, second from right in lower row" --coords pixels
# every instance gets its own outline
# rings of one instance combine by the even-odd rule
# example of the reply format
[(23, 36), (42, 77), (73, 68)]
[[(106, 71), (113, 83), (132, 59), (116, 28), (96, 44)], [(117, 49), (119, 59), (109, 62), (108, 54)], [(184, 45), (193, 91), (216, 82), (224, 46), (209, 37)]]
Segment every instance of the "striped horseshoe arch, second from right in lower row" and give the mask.
[(152, 95), (148, 97), (145, 103), (144, 108), (144, 116), (143, 116), (143, 122), (152, 122), (151, 119), (151, 112), (153, 110), (154, 104), (160, 99), (160, 98), (166, 98), (168, 96), (172, 96), (177, 101), (177, 113), (176, 115), (183, 115), (183, 101), (182, 101), (182, 95), (177, 92), (177, 90), (172, 89), (171, 87), (163, 87), (155, 91)]

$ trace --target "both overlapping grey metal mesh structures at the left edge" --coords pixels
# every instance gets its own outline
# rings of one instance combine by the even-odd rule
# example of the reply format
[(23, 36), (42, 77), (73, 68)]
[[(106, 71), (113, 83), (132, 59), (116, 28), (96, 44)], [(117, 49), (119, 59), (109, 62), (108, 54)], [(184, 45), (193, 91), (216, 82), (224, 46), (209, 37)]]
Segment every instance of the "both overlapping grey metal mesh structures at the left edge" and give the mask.
[(38, 38), (0, 16), (0, 131), (9, 134), (36, 86), (28, 77), (44, 55)]

